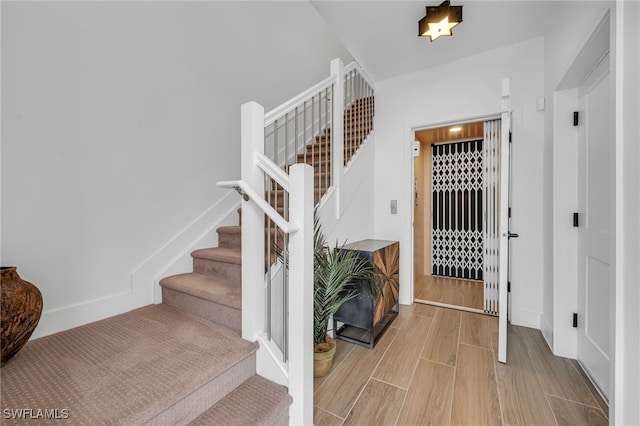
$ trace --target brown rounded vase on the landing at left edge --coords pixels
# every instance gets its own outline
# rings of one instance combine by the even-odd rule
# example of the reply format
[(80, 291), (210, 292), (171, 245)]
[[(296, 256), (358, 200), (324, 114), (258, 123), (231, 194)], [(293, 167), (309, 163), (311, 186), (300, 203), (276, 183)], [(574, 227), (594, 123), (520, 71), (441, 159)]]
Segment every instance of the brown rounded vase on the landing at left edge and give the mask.
[(14, 266), (2, 266), (2, 362), (4, 365), (27, 343), (42, 314), (42, 294), (24, 281)]

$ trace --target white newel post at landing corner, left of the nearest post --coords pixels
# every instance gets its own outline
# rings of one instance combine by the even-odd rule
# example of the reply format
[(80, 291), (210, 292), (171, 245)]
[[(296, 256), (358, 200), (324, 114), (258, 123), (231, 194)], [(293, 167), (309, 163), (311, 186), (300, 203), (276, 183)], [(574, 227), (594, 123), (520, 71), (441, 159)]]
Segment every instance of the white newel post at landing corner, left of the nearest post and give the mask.
[[(247, 102), (241, 110), (241, 180), (256, 193), (264, 192), (262, 171), (254, 152), (264, 154), (264, 107)], [(242, 202), (242, 338), (256, 341), (264, 331), (264, 213), (250, 201)]]

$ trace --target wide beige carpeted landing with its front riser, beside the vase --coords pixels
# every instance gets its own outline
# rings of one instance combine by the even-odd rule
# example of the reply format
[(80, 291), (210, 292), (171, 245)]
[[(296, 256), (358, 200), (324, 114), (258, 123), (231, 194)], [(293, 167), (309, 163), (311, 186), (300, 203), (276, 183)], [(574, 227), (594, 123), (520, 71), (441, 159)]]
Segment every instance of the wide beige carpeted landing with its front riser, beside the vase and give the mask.
[(2, 407), (68, 410), (56, 424), (188, 421), (255, 375), (257, 347), (150, 305), (27, 343), (2, 367)]

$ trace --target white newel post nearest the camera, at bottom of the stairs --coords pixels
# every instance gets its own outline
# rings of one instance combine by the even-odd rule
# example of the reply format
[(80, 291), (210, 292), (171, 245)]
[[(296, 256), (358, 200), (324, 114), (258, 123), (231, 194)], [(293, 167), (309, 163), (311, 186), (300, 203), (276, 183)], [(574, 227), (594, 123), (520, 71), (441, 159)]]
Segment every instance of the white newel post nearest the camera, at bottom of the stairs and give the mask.
[(289, 176), (289, 218), (299, 229), (289, 236), (289, 422), (312, 425), (313, 168), (295, 164)]

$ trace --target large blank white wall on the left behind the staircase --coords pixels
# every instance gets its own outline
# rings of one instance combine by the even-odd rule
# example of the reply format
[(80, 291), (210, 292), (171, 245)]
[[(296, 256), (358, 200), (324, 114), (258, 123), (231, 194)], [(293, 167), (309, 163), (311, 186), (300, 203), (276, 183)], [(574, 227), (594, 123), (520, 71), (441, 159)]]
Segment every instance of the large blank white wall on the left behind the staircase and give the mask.
[(240, 105), (350, 61), (306, 2), (1, 7), (2, 264), (43, 293), (35, 336), (151, 303), (132, 271), (239, 177)]

